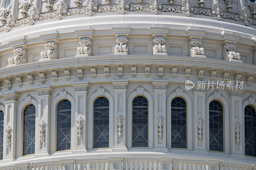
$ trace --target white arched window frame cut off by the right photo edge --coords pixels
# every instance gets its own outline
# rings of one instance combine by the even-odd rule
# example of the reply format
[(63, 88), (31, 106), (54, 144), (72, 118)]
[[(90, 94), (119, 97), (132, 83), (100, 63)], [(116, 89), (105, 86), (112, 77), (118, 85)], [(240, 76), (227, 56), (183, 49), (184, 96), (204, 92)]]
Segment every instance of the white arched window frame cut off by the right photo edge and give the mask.
[(244, 156), (246, 156), (246, 157), (252, 157), (252, 158), (255, 158), (255, 157), (253, 157), (253, 156), (249, 156), (249, 155), (245, 155), (245, 147), (244, 147), (244, 145), (245, 145), (245, 141), (244, 141), (244, 137), (245, 137), (245, 135), (244, 135), (244, 109), (245, 109), (245, 107), (246, 106), (252, 106), (254, 109), (255, 109), (255, 111), (256, 111), (256, 101), (255, 101), (255, 99), (253, 98), (253, 100), (245, 100), (244, 102), (243, 102), (243, 104), (242, 104), (242, 129), (241, 129), (241, 132), (242, 133), (240, 133), (240, 141), (242, 142), (242, 148), (243, 148), (243, 154), (244, 154)]

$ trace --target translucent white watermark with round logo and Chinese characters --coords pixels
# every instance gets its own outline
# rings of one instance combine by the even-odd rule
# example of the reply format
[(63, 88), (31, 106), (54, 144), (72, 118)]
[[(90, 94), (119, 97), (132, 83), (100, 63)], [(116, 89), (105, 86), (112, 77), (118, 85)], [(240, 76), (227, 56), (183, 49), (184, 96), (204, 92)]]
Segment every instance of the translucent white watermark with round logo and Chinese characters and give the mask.
[(186, 80), (185, 88), (186, 90), (193, 89), (196, 85), (196, 89), (243, 89), (244, 81), (198, 81), (197, 83), (192, 82), (191, 80)]

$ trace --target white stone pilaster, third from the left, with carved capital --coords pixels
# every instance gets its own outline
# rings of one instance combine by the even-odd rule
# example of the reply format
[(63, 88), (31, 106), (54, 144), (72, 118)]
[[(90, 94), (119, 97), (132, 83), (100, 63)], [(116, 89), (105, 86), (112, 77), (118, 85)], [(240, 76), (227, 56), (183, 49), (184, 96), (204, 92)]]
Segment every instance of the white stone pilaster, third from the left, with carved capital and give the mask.
[(73, 83), (75, 87), (75, 136), (74, 136), (74, 149), (79, 152), (87, 152), (86, 151), (86, 141), (87, 141), (87, 117), (86, 117), (86, 109), (87, 109), (87, 90), (90, 86), (88, 81), (83, 82), (75, 82)]

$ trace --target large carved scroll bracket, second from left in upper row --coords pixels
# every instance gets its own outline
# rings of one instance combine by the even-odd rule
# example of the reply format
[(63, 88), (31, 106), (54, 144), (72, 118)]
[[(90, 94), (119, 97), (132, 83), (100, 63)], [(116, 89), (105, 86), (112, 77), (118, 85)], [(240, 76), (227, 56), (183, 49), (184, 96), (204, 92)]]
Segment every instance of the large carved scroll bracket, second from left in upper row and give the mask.
[(58, 48), (55, 41), (48, 41), (44, 44), (45, 51), (41, 52), (41, 59), (49, 58), (51, 60), (58, 58)]

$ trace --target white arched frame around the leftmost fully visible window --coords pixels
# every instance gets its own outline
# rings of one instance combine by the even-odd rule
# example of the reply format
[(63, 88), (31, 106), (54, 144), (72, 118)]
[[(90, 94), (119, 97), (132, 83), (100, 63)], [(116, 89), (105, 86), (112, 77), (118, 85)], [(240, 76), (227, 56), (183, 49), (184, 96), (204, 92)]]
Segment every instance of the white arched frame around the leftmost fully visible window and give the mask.
[[(26, 97), (25, 97), (26, 98)], [(29, 100), (23, 100), (21, 103), (20, 103), (20, 106), (18, 108), (18, 115), (17, 115), (17, 126), (16, 126), (16, 136), (17, 136), (17, 140), (16, 140), (16, 148), (17, 149), (17, 156), (18, 157), (21, 157), (23, 156), (23, 142), (20, 142), (20, 141), (23, 141), (23, 118), (24, 118), (24, 109), (28, 106), (28, 105), (34, 105), (36, 107), (36, 114), (38, 113), (38, 102), (34, 99), (30, 99)], [(38, 151), (38, 145), (37, 143), (39, 142), (40, 140), (40, 136), (37, 135), (37, 134), (40, 134), (39, 132), (39, 122), (38, 122), (38, 119), (36, 117), (36, 125), (35, 125), (35, 154), (36, 152)], [(25, 155), (27, 156), (27, 155)]]

